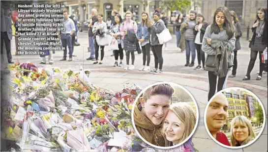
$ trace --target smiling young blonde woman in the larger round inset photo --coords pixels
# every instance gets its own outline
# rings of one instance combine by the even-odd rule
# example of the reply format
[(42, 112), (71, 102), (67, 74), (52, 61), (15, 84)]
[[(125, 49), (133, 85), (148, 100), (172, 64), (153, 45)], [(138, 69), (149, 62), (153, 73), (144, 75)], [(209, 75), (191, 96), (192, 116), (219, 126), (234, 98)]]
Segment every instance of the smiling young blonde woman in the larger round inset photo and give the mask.
[[(165, 147), (175, 146), (183, 142), (192, 133), (196, 124), (196, 112), (186, 102), (176, 103), (169, 110), (163, 123)], [(194, 152), (192, 138), (183, 144), (183, 149)]]

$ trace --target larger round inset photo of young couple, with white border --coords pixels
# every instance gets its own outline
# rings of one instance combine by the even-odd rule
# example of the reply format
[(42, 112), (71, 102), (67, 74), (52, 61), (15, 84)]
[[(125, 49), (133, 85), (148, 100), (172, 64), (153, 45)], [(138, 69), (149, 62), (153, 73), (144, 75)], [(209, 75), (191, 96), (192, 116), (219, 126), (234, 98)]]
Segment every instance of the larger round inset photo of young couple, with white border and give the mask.
[(157, 82), (137, 96), (131, 116), (137, 135), (148, 145), (158, 149), (181, 146), (183, 150), (182, 144), (192, 142), (199, 111), (195, 99), (184, 87)]

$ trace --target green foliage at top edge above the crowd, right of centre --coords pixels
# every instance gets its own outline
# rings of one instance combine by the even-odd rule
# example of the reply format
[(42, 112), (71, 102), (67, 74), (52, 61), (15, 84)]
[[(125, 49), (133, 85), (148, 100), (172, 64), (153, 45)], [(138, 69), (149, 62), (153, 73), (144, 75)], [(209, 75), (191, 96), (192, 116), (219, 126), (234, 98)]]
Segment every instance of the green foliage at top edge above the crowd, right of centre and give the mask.
[(191, 0), (161, 0), (160, 6), (164, 10), (181, 10), (191, 6)]

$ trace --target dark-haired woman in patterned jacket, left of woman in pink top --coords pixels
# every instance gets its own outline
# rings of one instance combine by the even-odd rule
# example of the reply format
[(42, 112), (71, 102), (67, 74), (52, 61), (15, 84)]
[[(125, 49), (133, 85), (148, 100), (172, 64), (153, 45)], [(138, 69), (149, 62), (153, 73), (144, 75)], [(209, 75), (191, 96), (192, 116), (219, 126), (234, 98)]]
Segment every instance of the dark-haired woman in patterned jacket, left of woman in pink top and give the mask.
[[(114, 17), (115, 23), (111, 25), (109, 33), (111, 36), (113, 36), (117, 42), (118, 42), (118, 48), (119, 50), (114, 50), (115, 53), (115, 64), (114, 67), (119, 66), (122, 67), (123, 66), (123, 49), (121, 46), (121, 33), (120, 33), (120, 25), (122, 24), (123, 20), (121, 18), (121, 16), (119, 14), (116, 14)], [(118, 62), (118, 57), (120, 56), (120, 62)]]

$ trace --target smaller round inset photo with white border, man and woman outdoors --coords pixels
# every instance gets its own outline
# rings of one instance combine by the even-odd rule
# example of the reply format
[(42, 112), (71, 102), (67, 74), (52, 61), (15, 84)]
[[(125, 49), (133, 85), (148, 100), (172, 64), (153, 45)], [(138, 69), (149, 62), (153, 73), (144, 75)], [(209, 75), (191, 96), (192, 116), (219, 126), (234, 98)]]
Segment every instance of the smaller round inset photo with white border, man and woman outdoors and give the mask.
[(249, 90), (231, 87), (216, 93), (205, 109), (208, 135), (219, 145), (241, 149), (254, 143), (264, 130), (265, 109)]

